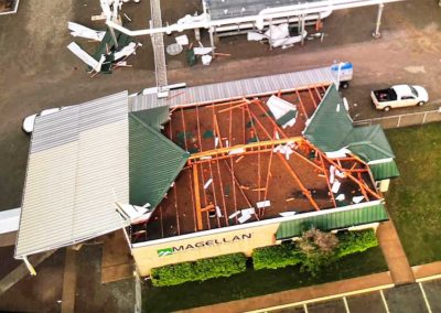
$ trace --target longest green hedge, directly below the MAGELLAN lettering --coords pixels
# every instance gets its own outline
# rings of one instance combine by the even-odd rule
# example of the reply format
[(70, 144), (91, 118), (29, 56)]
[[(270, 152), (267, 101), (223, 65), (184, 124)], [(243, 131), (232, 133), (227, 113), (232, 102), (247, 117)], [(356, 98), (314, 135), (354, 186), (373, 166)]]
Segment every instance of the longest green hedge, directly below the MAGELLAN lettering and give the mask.
[(212, 278), (229, 277), (247, 268), (244, 253), (225, 255), (194, 262), (183, 262), (152, 269), (153, 285), (174, 285), (187, 281), (204, 281)]

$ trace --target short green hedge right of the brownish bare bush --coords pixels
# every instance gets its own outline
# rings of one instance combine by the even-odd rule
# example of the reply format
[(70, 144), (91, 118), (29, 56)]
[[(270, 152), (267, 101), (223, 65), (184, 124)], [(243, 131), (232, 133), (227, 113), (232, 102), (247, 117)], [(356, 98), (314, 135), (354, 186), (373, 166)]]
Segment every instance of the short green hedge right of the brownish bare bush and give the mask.
[(336, 250), (337, 258), (347, 255), (363, 252), (369, 248), (378, 246), (377, 236), (374, 229), (365, 229), (357, 231), (337, 233), (338, 247)]

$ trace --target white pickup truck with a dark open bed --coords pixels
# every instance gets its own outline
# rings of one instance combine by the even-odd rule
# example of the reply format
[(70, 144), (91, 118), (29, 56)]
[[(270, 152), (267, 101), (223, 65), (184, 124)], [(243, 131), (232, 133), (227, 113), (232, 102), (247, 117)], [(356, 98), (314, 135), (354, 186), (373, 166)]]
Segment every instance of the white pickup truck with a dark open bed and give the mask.
[(378, 110), (422, 106), (429, 101), (429, 94), (421, 86), (396, 85), (387, 89), (373, 90), (370, 98)]

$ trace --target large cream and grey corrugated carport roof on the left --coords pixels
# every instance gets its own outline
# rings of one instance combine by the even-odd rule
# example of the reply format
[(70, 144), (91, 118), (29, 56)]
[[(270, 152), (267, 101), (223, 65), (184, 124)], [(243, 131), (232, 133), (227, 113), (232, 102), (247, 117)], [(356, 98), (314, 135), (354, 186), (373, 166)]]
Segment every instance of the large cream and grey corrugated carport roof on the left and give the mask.
[(15, 257), (69, 246), (127, 225), (127, 91), (39, 117), (32, 136)]

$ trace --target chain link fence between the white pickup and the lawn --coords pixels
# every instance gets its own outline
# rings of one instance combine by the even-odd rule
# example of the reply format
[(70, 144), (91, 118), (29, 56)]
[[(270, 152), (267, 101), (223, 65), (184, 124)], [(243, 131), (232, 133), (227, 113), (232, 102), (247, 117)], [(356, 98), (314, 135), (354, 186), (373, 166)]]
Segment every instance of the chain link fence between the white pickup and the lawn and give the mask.
[(388, 117), (379, 117), (372, 118), (365, 120), (355, 120), (355, 126), (365, 126), (365, 125), (374, 125), (379, 123), (383, 128), (398, 128), (398, 127), (407, 127), (407, 126), (416, 126), (416, 125), (424, 125), (429, 122), (441, 121), (441, 108), (438, 110), (424, 111), (424, 112), (416, 112), (416, 114), (405, 114), (398, 116), (388, 116)]

